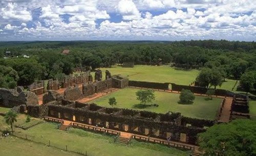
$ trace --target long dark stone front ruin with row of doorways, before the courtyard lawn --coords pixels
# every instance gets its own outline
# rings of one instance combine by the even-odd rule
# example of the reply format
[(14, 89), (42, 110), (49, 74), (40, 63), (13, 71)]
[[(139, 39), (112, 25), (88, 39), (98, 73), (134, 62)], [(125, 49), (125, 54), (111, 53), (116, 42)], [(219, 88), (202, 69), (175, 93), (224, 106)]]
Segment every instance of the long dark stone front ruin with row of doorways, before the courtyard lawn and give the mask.
[[(160, 114), (119, 108), (104, 108), (76, 102), (75, 105), (48, 105), (48, 116), (117, 131), (196, 144), (197, 134), (214, 122), (182, 117), (180, 113)], [(187, 126), (186, 124), (193, 126)]]

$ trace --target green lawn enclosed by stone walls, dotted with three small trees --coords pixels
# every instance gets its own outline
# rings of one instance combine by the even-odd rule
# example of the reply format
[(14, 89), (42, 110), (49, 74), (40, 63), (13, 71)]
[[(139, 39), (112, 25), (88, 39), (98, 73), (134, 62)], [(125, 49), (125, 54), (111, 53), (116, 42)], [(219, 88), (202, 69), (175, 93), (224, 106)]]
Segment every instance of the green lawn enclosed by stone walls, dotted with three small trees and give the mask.
[[(138, 103), (140, 102), (136, 99), (136, 91), (138, 91), (138, 89), (121, 89), (114, 93), (92, 100), (90, 103), (94, 102), (99, 106), (111, 107), (108, 104), (108, 99), (109, 97), (115, 97), (117, 100), (117, 105), (115, 107), (117, 108), (142, 110), (138, 108)], [(196, 96), (192, 105), (181, 105), (178, 103), (180, 94), (155, 91), (155, 95), (156, 99), (153, 103), (157, 103), (159, 107), (150, 107), (143, 110), (157, 113), (167, 113), (168, 111), (180, 112), (182, 115), (187, 117), (203, 119), (214, 119), (222, 101), (221, 98), (207, 100), (204, 96)]]

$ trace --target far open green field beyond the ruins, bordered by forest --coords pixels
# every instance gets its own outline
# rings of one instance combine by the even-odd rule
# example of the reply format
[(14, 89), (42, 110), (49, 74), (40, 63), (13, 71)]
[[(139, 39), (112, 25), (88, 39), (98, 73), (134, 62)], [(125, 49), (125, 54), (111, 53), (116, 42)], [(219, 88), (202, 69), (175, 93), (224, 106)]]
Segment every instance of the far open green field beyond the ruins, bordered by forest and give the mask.
[[(105, 79), (105, 70), (109, 70), (112, 75), (121, 74), (134, 81), (148, 81), (159, 83), (176, 83), (179, 85), (189, 85), (196, 80), (199, 70), (181, 70), (167, 65), (163, 66), (145, 66), (135, 65), (134, 68), (123, 68), (113, 66), (112, 68), (100, 68), (102, 70), (102, 79)], [(94, 75), (94, 72), (92, 72)], [(226, 79), (220, 89), (232, 90), (235, 80)], [(234, 89), (236, 90), (236, 89)]]

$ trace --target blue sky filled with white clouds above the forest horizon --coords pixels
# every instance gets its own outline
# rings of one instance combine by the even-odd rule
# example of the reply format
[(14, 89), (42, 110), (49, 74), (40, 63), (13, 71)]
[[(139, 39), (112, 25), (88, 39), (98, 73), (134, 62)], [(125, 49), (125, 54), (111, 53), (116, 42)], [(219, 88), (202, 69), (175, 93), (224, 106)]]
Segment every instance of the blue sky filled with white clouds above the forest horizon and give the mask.
[(1, 0), (0, 41), (255, 41), (256, 0)]

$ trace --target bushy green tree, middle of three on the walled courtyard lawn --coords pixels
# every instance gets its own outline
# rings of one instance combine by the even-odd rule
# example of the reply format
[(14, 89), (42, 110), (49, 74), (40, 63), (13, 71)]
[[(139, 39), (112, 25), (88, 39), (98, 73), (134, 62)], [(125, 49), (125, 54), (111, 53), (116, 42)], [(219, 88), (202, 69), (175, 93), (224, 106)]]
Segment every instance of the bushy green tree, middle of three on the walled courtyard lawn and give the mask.
[(155, 99), (155, 93), (153, 90), (139, 90), (136, 92), (137, 100), (146, 105), (147, 102), (151, 102)]

